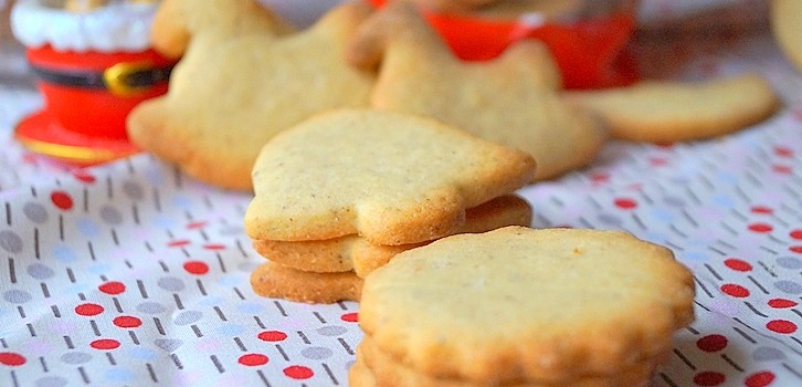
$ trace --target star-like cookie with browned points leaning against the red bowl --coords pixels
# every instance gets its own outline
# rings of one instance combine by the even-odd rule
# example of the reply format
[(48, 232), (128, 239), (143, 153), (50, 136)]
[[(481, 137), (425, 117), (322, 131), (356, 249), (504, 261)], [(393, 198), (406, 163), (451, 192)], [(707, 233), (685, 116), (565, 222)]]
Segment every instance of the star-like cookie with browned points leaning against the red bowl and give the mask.
[(594, 116), (562, 100), (555, 60), (534, 40), (492, 61), (464, 62), (414, 9), (393, 2), (363, 23), (348, 59), (379, 66), (374, 108), (435, 117), (527, 151), (539, 180), (589, 164), (606, 139)]

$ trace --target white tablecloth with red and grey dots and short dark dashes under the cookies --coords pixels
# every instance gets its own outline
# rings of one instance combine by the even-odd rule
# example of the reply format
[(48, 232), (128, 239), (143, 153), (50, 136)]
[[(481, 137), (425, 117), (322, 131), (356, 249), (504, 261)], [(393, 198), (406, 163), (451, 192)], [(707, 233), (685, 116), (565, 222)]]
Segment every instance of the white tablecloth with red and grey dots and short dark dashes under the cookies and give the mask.
[[(697, 321), (654, 386), (802, 385), (802, 74), (763, 34), (677, 76), (746, 70), (782, 95), (767, 122), (708, 142), (611, 142), (590, 168), (520, 190), (534, 227), (627, 230), (694, 271)], [(0, 386), (347, 385), (358, 304), (254, 295), (249, 195), (149, 155), (49, 163), (11, 138), (41, 105), (24, 82), (0, 84)]]

